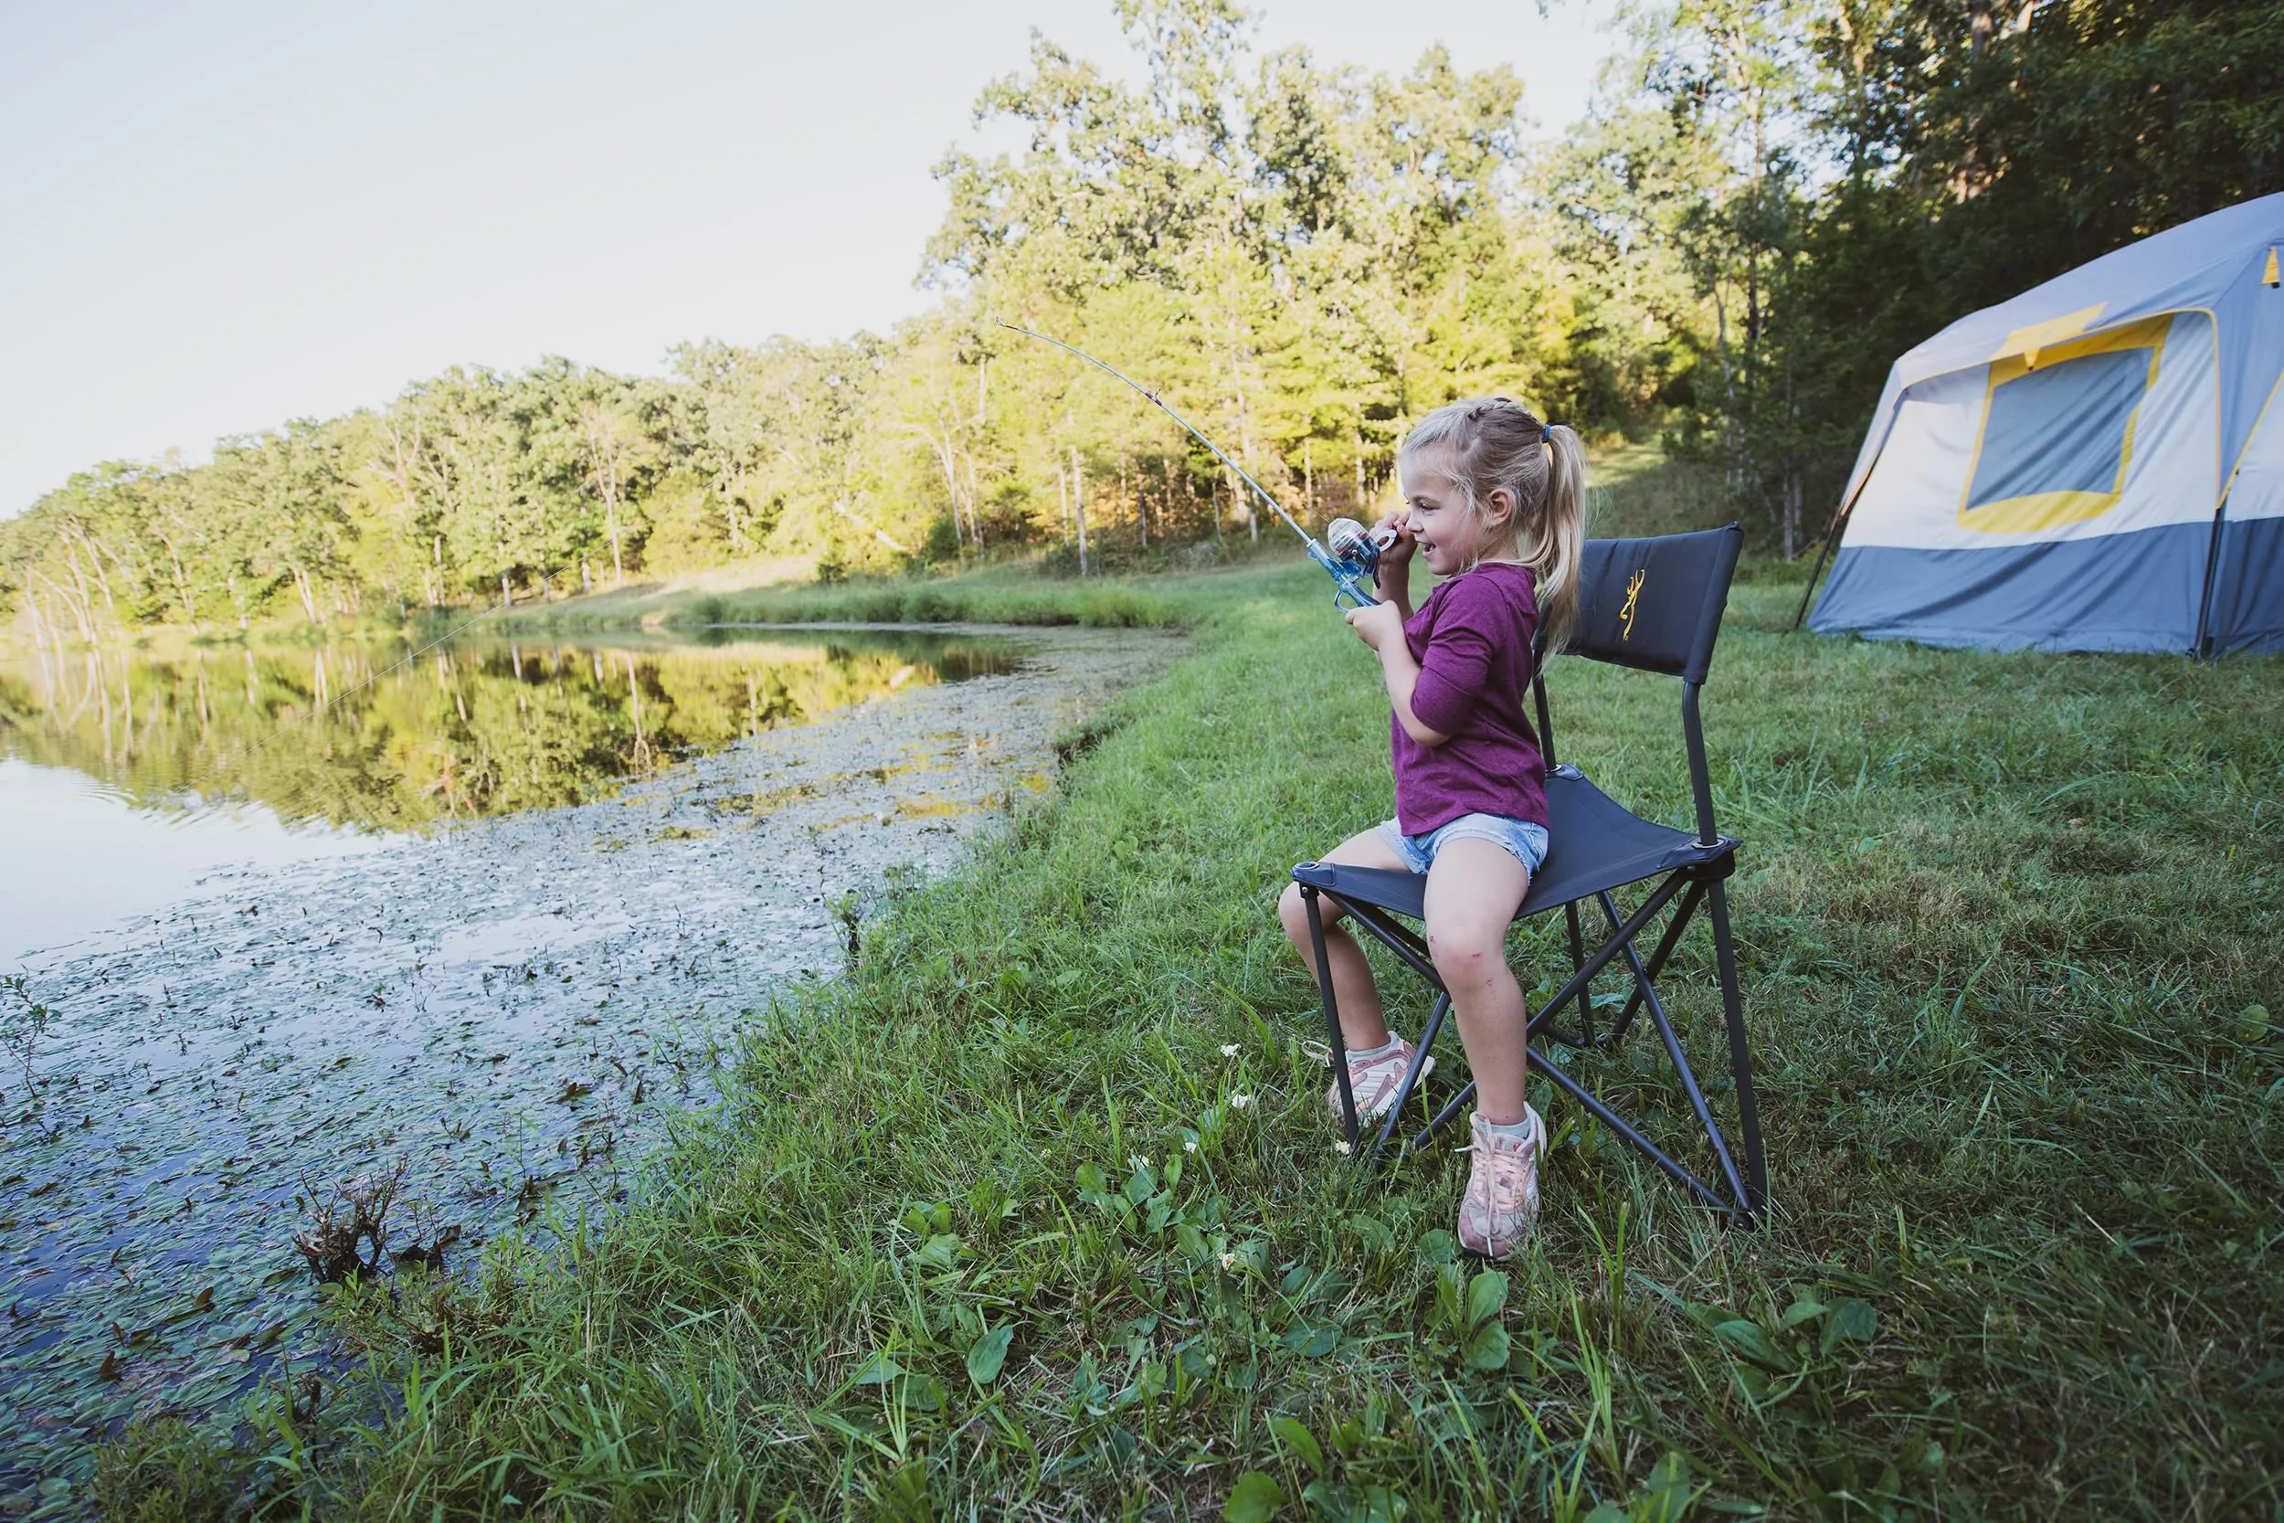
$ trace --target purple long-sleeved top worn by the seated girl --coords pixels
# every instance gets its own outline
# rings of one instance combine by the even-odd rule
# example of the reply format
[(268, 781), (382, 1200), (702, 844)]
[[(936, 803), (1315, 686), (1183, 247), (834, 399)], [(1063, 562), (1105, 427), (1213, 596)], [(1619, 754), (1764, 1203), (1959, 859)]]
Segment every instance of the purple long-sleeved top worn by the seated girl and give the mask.
[(1421, 664), (1412, 715), (1450, 740), (1423, 747), (1389, 715), (1396, 824), (1425, 836), (1459, 815), (1546, 824), (1546, 756), (1523, 703), (1539, 628), (1528, 566), (1475, 566), (1427, 594), (1405, 644)]

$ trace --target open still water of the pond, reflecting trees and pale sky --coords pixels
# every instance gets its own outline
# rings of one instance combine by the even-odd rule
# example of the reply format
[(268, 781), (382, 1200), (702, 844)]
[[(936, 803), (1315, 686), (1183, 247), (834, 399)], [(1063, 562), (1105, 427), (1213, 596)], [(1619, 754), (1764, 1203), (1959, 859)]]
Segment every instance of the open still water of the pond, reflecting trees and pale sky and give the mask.
[(1007, 639), (802, 630), (0, 658), (0, 970), (222, 868), (368, 849), (596, 797), (909, 685), (1012, 671)]

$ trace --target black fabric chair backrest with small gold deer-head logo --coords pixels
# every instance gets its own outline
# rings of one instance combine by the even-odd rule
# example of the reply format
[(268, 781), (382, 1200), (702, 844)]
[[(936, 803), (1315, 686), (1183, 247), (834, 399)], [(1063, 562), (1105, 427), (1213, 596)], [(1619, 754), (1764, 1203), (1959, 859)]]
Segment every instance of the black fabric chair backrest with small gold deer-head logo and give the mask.
[(1704, 683), (1729, 605), (1745, 532), (1590, 539), (1578, 575), (1578, 623), (1565, 651)]

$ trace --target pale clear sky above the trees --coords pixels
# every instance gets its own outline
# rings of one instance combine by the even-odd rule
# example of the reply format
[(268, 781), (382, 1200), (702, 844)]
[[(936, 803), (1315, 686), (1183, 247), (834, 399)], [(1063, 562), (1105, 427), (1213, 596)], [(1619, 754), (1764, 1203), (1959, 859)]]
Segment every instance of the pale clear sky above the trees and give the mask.
[[(1254, 5), (1329, 64), (1507, 64), (1549, 135), (1608, 9)], [(455, 363), (886, 329), (1032, 27), (1135, 73), (1108, 0), (0, 0), (0, 518)]]

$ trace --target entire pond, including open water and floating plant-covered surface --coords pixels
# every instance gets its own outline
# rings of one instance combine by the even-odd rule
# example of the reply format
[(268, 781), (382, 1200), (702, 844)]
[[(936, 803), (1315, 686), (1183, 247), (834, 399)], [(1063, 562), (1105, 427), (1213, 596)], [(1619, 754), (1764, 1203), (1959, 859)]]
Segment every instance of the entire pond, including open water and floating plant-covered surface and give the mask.
[(850, 916), (1051, 785), (1053, 740), (1169, 651), (804, 626), (0, 660), (0, 1498), (82, 1480), (130, 1416), (327, 1368), (308, 1249), (352, 1196), (393, 1196), (381, 1270), (612, 1210), (770, 989), (831, 977)]

